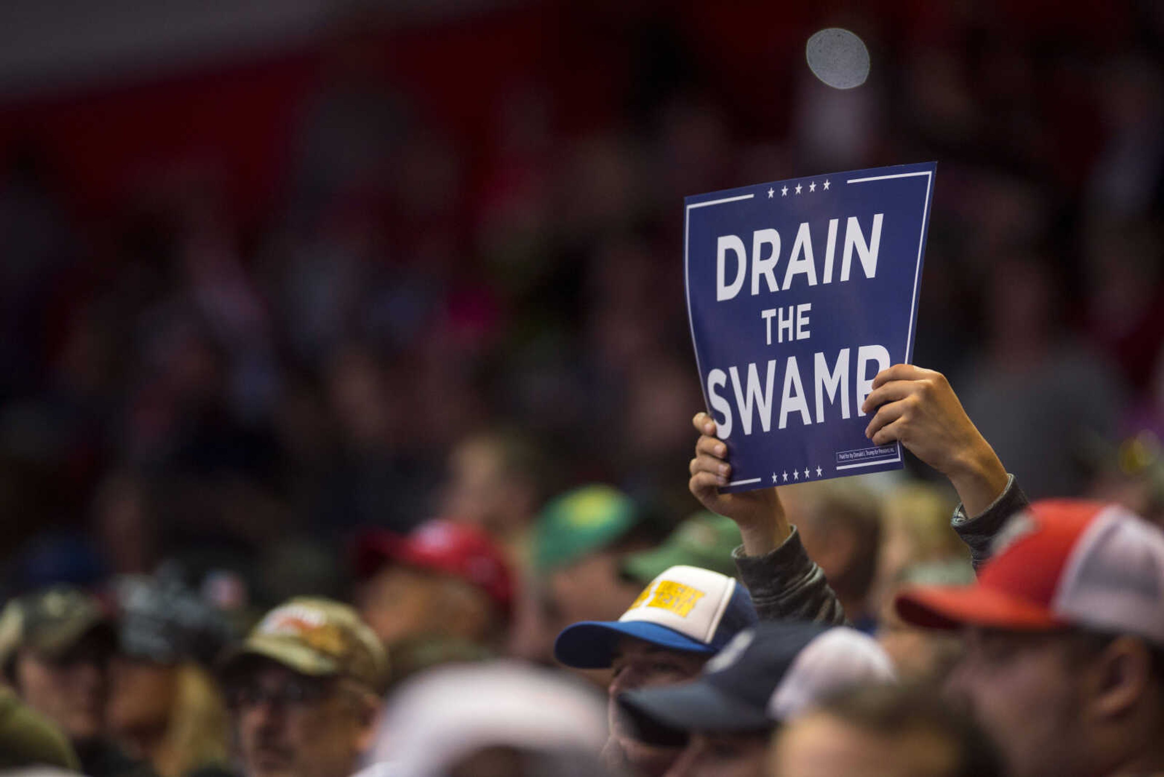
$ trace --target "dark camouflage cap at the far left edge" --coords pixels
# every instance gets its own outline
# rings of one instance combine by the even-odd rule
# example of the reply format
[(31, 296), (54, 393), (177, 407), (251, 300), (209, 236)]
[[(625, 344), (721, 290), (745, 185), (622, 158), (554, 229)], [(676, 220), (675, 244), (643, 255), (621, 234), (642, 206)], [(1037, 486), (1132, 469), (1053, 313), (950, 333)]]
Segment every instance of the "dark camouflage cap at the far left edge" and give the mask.
[(93, 633), (111, 648), (116, 642), (101, 603), (78, 588), (54, 586), (19, 596), (0, 614), (0, 667), (9, 672), (21, 648), (59, 656)]

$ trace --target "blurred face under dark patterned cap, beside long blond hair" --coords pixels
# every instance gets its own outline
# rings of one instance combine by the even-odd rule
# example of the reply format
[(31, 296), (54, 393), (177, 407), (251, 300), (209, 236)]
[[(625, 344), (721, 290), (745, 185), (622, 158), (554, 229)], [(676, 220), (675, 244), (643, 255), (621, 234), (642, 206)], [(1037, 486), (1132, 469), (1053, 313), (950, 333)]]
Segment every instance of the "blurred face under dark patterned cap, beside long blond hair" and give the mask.
[(109, 670), (109, 729), (133, 736), (165, 728), (177, 693), (177, 666), (115, 656)]

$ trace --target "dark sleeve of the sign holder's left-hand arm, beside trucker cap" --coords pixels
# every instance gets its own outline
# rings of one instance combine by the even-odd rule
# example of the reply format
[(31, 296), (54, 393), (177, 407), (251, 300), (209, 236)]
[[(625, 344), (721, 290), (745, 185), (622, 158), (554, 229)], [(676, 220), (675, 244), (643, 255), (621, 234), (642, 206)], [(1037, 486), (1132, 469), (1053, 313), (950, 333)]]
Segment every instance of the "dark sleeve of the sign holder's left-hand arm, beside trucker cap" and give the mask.
[(796, 527), (788, 539), (769, 553), (744, 556), (741, 545), (732, 552), (732, 558), (761, 621), (845, 622), (837, 594), (829, 587), (821, 567), (808, 557)]

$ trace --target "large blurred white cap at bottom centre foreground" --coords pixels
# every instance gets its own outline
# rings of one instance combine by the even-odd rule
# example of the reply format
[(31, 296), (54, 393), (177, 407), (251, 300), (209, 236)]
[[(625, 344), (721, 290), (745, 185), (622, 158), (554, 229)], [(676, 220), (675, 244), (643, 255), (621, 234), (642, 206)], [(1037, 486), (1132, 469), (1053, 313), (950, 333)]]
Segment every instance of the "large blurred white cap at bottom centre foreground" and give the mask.
[(587, 684), (510, 661), (440, 666), (390, 697), (365, 774), (601, 775), (605, 739)]

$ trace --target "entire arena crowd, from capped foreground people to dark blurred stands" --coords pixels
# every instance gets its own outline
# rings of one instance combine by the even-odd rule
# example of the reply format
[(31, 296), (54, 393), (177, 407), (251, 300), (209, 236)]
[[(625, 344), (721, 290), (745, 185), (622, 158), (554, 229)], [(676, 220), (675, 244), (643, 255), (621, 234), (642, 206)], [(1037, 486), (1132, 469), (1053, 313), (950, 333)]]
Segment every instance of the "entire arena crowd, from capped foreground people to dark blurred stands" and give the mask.
[[(0, 770), (1164, 775), (1164, 14), (513, 5), (488, 126), (336, 24), (272, 202), (0, 148)], [(721, 493), (681, 197), (931, 158), (906, 472)]]

